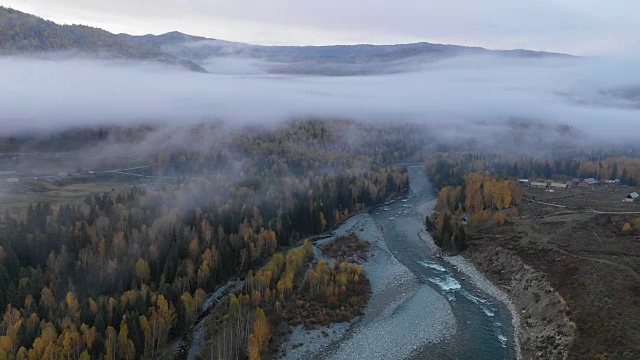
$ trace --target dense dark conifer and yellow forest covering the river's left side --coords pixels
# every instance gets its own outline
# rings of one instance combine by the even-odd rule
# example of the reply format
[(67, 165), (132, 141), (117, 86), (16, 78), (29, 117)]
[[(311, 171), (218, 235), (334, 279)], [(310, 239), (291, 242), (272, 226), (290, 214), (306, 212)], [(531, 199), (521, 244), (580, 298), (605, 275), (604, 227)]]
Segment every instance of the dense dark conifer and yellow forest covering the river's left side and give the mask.
[[(392, 165), (419, 152), (413, 133), (411, 126), (341, 121), (234, 130), (226, 143), (200, 152), (148, 151), (159, 178), (189, 176), (7, 214), (0, 230), (0, 359), (155, 358), (217, 286), (269, 259), (267, 266), (276, 262), (273, 281), (284, 282), (283, 290), (280, 280), (272, 282), (271, 297), (279, 298), (298, 268), (288, 261), (281, 268), (272, 255), (406, 192), (406, 169)], [(308, 286), (338, 301), (346, 283), (329, 291), (322, 279), (330, 274), (353, 284), (353, 266), (318, 262)], [(256, 289), (266, 295), (249, 289), (238, 296), (258, 296)], [(270, 306), (276, 304), (252, 312), (253, 321)], [(255, 336), (252, 346), (264, 350)]]

